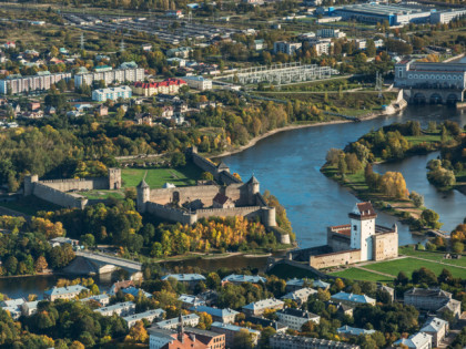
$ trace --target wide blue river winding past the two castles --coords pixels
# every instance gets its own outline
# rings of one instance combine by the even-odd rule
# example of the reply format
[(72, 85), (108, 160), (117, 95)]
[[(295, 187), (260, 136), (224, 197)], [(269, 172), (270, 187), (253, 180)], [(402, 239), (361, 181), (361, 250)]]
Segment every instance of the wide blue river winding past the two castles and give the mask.
[[(356, 198), (337, 183), (325, 177), (321, 166), (331, 147), (343, 148), (372, 129), (394, 122), (418, 120), (423, 126), (429, 121), (452, 120), (460, 125), (466, 123), (466, 113), (444, 106), (409, 106), (399, 115), (377, 117), (362, 123), (333, 124), (298, 129), (272, 135), (260, 141), (255, 146), (223, 160), (232, 172), (237, 172), (243, 181), (254, 175), (261, 182), (261, 192), (270, 189), (285, 206), (300, 247), (312, 247), (326, 243), (326, 227), (346, 224), (347, 213)], [(438, 154), (414, 156), (402, 162), (387, 163), (376, 167), (378, 172), (401, 171), (408, 189), (414, 189), (425, 197), (426, 207), (435, 209), (444, 223), (443, 229), (452, 230), (466, 217), (466, 196), (458, 193), (440, 193), (426, 179), (425, 165)], [(379, 213), (377, 224), (392, 226), (398, 224), (399, 244), (411, 244), (414, 237), (407, 226), (395, 217)], [(193, 259), (171, 263), (166, 267), (199, 266), (216, 270), (221, 267), (265, 266), (266, 258), (231, 257), (225, 259)], [(34, 276), (30, 278), (0, 278), (0, 292), (9, 297), (27, 297), (29, 294), (41, 296), (45, 288), (54, 285), (55, 276)], [(98, 283), (102, 289), (109, 287), (109, 280)]]

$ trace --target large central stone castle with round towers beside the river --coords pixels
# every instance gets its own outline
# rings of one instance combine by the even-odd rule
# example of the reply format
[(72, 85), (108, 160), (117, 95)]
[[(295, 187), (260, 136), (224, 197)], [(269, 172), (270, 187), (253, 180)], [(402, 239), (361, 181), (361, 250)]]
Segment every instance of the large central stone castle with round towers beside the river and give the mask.
[[(200, 156), (195, 147), (190, 150), (189, 156), (201, 170), (211, 173), (215, 182), (151, 189), (142, 179), (136, 188), (139, 212), (190, 225), (203, 217), (243, 216), (259, 218), (267, 228), (276, 227), (275, 207), (267, 205), (254, 176), (243, 183), (223, 162), (215, 165)], [(288, 235), (282, 235), (281, 242), (290, 244)]]

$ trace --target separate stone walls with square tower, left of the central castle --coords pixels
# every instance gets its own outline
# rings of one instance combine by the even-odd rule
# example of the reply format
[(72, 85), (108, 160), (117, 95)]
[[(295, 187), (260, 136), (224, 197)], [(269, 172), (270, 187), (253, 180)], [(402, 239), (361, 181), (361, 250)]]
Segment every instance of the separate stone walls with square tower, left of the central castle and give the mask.
[(24, 196), (34, 195), (52, 204), (83, 209), (90, 201), (74, 192), (121, 188), (121, 170), (109, 168), (108, 177), (39, 181), (38, 175), (24, 177)]

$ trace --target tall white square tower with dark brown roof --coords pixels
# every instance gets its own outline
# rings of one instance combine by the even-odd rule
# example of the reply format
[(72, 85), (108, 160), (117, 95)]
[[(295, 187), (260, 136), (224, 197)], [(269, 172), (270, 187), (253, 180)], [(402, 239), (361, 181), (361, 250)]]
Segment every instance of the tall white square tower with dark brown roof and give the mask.
[(351, 248), (361, 249), (361, 260), (373, 259), (373, 238), (377, 214), (371, 202), (358, 203), (350, 213)]

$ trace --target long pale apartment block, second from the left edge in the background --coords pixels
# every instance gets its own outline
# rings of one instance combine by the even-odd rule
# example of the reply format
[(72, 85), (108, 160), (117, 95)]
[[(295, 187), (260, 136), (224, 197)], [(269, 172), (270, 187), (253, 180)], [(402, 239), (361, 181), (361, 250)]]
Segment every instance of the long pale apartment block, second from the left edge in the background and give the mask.
[(144, 81), (143, 68), (115, 69), (103, 72), (79, 73), (74, 75), (74, 86), (92, 85), (93, 81), (103, 81), (105, 85)]

